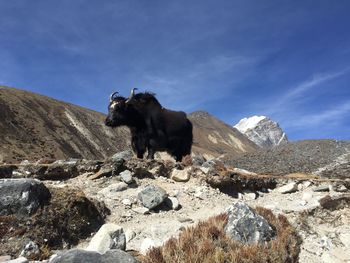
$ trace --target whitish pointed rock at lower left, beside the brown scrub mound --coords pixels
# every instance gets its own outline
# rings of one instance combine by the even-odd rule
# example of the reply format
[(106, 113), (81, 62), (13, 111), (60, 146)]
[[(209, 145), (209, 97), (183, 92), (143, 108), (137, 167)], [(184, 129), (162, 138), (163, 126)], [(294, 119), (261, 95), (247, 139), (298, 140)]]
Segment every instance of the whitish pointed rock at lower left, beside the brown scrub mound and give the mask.
[(86, 250), (97, 251), (101, 254), (110, 249), (125, 250), (126, 239), (124, 230), (116, 224), (104, 224), (91, 239)]

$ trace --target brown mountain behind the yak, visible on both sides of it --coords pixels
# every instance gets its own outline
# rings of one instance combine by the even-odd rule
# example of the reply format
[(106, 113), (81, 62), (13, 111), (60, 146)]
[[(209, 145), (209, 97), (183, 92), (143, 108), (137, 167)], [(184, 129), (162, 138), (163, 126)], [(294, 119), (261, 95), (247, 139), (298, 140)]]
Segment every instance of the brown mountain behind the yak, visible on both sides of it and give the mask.
[[(130, 148), (128, 128), (109, 128), (106, 116), (73, 104), (0, 87), (0, 163), (45, 159), (104, 159)], [(207, 158), (258, 147), (235, 128), (205, 112), (189, 115), (193, 154)]]

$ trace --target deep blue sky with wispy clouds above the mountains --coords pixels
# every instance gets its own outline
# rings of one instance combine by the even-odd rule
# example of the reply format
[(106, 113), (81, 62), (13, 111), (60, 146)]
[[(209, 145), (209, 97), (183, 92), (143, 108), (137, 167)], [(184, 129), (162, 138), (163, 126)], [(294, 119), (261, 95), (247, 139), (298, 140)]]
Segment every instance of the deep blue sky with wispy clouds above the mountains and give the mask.
[(152, 91), (291, 140), (350, 139), (350, 1), (0, 1), (0, 84), (100, 112)]

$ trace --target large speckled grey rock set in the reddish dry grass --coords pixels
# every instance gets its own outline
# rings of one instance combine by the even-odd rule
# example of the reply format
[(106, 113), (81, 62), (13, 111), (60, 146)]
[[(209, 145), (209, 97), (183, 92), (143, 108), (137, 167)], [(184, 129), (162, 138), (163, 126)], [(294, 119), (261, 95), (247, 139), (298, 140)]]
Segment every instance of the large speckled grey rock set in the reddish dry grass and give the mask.
[(243, 202), (230, 206), (227, 213), (225, 232), (236, 241), (249, 244), (264, 243), (276, 235), (269, 223)]

